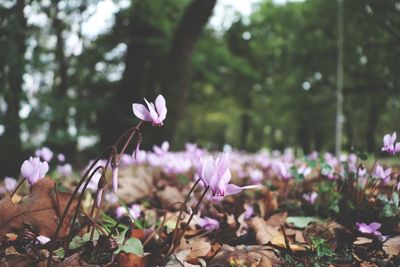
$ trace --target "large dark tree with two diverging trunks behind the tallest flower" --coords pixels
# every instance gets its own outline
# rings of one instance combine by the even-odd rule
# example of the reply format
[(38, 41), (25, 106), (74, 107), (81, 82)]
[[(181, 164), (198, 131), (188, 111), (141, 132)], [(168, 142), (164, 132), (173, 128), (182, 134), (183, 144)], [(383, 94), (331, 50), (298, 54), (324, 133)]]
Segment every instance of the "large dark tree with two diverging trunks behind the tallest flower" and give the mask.
[(113, 143), (132, 125), (132, 102), (157, 93), (171, 99), (168, 119), (161, 133), (148, 137), (146, 143), (172, 141), (186, 103), (192, 52), (216, 0), (193, 0), (182, 10), (185, 2), (176, 0), (164, 6), (162, 1), (139, 1), (132, 5), (124, 74), (110, 99), (112, 112), (105, 108), (99, 114), (102, 145)]

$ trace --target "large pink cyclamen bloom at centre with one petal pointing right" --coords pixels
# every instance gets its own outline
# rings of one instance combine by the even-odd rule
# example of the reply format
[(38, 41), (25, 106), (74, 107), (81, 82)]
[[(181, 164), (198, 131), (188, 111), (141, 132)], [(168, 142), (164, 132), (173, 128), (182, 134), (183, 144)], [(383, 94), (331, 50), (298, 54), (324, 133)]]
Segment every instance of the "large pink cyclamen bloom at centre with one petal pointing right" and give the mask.
[(259, 187), (258, 185), (237, 186), (229, 184), (231, 171), (228, 168), (228, 154), (213, 159), (212, 156), (203, 159), (200, 178), (205, 186), (209, 186), (213, 197), (223, 197), (241, 192), (243, 189)]

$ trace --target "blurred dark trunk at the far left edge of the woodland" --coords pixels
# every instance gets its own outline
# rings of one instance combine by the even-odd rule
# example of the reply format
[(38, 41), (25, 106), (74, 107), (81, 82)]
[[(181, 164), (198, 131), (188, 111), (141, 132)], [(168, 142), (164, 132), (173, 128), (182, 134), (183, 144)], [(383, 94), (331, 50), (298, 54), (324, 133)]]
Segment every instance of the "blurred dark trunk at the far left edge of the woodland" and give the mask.
[[(25, 68), (25, 32), (26, 19), (24, 16), (24, 0), (17, 0), (13, 11), (10, 13), (12, 18), (9, 21), (10, 39), (13, 46), (9, 47), (9, 53), (15, 55), (10, 62), (6, 63), (8, 72), (6, 71), (6, 93), (4, 99), (7, 103), (7, 110), (4, 115), (5, 131), (1, 136), (0, 153), (0, 175), (16, 176), (19, 173), (19, 166), (23, 159), (22, 145), (20, 139), (20, 123), (19, 117), (20, 101), (22, 98), (22, 76)], [(14, 50), (14, 51), (11, 51)]]

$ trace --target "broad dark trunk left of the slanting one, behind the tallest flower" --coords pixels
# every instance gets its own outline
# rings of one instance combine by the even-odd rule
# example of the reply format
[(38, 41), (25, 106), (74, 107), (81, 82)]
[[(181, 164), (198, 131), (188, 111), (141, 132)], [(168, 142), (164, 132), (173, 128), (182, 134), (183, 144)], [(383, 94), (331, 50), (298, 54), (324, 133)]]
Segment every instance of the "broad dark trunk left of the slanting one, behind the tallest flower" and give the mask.
[(159, 56), (156, 55), (159, 48), (149, 40), (161, 40), (164, 36), (160, 29), (144, 20), (142, 12), (149, 8), (152, 5), (138, 3), (129, 18), (130, 38), (122, 80), (109, 97), (109, 103), (98, 113), (103, 147), (113, 144), (123, 131), (132, 126), (132, 103), (143, 103), (144, 97), (154, 96), (159, 82), (158, 64), (154, 62), (154, 58)]

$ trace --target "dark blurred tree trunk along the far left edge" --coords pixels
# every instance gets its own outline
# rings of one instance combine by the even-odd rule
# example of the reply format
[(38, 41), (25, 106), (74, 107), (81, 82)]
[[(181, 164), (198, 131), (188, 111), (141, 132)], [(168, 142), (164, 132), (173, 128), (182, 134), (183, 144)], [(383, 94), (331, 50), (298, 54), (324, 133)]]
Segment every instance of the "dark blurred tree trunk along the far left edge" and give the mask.
[(6, 103), (4, 133), (0, 136), (0, 175), (18, 173), (22, 160), (19, 111), (23, 98), (25, 72), (26, 18), (25, 1), (17, 0), (10, 8), (0, 6), (0, 88)]

